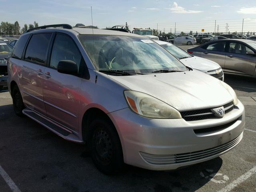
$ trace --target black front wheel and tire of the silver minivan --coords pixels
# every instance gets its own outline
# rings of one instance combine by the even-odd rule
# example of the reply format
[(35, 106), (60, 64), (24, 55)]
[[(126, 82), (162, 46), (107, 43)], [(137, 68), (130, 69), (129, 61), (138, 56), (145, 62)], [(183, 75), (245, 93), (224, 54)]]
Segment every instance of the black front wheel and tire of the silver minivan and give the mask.
[(95, 166), (105, 174), (120, 172), (124, 167), (122, 146), (112, 122), (95, 119), (89, 130), (89, 147)]

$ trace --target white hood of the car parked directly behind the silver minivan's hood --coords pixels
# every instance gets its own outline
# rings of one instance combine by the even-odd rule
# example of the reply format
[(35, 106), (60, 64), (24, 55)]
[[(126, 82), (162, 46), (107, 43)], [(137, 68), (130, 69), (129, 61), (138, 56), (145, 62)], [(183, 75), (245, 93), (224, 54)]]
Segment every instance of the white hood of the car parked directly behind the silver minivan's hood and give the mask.
[(218, 63), (197, 56), (180, 59), (180, 61), (184, 65), (202, 72), (207, 72), (220, 68), (220, 65)]

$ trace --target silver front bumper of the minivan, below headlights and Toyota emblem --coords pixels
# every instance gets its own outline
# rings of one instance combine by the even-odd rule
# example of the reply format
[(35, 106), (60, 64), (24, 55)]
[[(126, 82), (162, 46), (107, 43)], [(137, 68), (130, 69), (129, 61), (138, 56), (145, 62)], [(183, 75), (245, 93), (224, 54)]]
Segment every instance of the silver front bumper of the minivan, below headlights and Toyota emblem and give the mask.
[[(184, 119), (150, 119), (139, 116), (129, 108), (112, 112), (109, 116), (120, 136), (124, 162), (149, 170), (173, 170), (218, 157), (241, 141), (245, 124), (244, 106), (240, 101), (232, 112), (218, 119), (190, 122)], [(194, 132), (195, 129), (232, 121), (235, 123), (222, 130), (200, 134)], [(223, 150), (218, 150), (220, 148)], [(216, 152), (211, 153), (212, 150)], [(194, 157), (202, 151), (210, 153), (188, 161), (177, 160), (182, 156)]]

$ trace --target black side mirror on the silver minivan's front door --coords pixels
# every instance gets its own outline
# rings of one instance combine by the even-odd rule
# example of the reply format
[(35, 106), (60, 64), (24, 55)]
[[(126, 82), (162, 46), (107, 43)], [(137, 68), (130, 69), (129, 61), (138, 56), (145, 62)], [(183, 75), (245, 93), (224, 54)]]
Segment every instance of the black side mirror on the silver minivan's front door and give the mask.
[(70, 75), (77, 75), (77, 64), (71, 60), (60, 60), (58, 63), (58, 72)]

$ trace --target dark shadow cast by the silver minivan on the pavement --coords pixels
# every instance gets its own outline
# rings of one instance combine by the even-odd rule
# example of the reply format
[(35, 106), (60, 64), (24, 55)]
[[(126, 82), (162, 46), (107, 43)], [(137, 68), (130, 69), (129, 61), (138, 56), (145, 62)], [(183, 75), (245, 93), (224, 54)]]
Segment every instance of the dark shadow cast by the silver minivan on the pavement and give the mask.
[(16, 116), (10, 104), (0, 110), (4, 112), (1, 166), (21, 191), (193, 192), (212, 182), (222, 166), (218, 157), (173, 171), (127, 165), (120, 174), (105, 175), (94, 166), (85, 145), (64, 140), (30, 118)]

